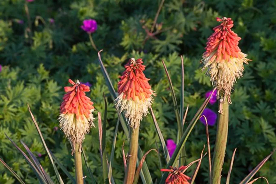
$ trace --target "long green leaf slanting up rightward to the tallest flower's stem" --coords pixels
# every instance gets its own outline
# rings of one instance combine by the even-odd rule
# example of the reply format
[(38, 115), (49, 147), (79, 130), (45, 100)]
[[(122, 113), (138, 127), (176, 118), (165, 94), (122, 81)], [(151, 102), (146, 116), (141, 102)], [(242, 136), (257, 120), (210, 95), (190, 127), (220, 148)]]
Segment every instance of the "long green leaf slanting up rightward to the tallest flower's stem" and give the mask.
[[(212, 92), (212, 94), (214, 93), (214, 90)], [(198, 109), (198, 112), (195, 114), (194, 118), (191, 120), (189, 126), (187, 127), (187, 129), (185, 130), (183, 136), (181, 137), (179, 144), (176, 146), (175, 152), (173, 153), (173, 155), (171, 156), (171, 159), (169, 161), (169, 163), (167, 164), (166, 168), (169, 169), (169, 166), (174, 166), (175, 163), (177, 162), (177, 158), (180, 155), (181, 149), (183, 149), (192, 129), (195, 126), (195, 123), (198, 121), (201, 113), (203, 112), (203, 110), (205, 109), (205, 107), (207, 106), (208, 102), (210, 101), (211, 95), (208, 97), (208, 99), (205, 100), (205, 102), (201, 105), (201, 107)], [(165, 180), (168, 176), (168, 172), (164, 173), (164, 175), (161, 178), (160, 184), (164, 184)]]

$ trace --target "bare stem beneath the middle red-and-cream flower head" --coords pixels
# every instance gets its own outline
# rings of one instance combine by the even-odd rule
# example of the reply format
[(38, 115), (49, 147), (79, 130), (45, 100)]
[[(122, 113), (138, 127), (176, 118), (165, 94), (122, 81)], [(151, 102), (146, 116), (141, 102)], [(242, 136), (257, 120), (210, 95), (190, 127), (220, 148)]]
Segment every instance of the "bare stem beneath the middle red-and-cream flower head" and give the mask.
[(130, 144), (128, 152), (128, 165), (125, 173), (125, 184), (132, 184), (134, 180), (137, 153), (138, 153), (138, 139), (139, 139), (139, 127), (131, 129), (130, 133)]

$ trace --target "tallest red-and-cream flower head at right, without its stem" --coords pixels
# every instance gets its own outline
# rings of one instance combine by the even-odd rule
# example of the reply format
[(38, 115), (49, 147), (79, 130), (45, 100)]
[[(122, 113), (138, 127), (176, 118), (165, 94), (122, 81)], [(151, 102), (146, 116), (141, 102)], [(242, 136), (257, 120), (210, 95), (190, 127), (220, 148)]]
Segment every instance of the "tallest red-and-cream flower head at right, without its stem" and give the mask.
[(231, 30), (233, 20), (224, 17), (217, 18), (217, 21), (221, 24), (213, 28), (214, 33), (207, 39), (206, 52), (202, 56), (202, 70), (208, 69), (207, 74), (218, 89), (218, 97), (222, 95), (223, 100), (228, 97), (228, 102), (231, 103), (231, 89), (236, 79), (242, 76), (243, 63), (248, 64), (250, 60), (238, 47), (241, 38)]

